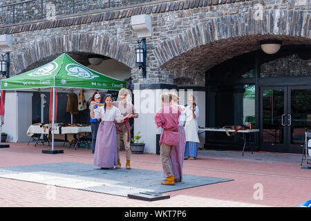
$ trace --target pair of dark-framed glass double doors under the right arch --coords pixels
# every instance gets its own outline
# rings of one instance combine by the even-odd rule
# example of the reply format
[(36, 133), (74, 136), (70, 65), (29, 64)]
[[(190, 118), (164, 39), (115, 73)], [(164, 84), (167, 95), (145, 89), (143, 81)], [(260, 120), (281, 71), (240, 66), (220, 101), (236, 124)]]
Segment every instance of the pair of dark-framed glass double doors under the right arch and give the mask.
[(311, 131), (311, 87), (261, 88), (261, 151), (302, 153)]

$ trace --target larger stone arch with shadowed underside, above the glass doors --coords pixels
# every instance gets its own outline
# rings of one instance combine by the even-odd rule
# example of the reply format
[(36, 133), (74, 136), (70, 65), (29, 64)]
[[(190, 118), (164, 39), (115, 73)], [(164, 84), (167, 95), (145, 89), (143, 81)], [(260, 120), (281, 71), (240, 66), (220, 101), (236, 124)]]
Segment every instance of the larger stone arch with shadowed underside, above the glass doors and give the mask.
[[(162, 41), (155, 48), (159, 66), (171, 72), (174, 70), (187, 72), (191, 69), (202, 73), (236, 56), (233, 44), (245, 47), (239, 51), (239, 55), (241, 52), (260, 49), (259, 41), (267, 38), (281, 39), (283, 45), (311, 44), (310, 12), (270, 9), (263, 10), (260, 19), (255, 15), (256, 9), (249, 8), (244, 13), (212, 18), (187, 29), (176, 37)], [(225, 56), (218, 61), (210, 61), (217, 50), (223, 50), (221, 54)], [(202, 51), (205, 51), (203, 53), (206, 57), (205, 64), (196, 62), (197, 57), (202, 55)], [(185, 64), (181, 64), (181, 61)]]

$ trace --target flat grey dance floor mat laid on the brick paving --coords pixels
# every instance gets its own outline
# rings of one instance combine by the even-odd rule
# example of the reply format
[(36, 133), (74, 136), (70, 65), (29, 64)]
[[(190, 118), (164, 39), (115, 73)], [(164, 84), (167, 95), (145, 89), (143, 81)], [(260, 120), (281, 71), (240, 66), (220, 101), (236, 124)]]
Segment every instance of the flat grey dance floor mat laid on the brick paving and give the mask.
[(160, 184), (164, 181), (162, 171), (135, 168), (102, 170), (93, 164), (77, 162), (0, 167), (0, 177), (125, 197), (131, 193), (167, 193), (232, 181), (232, 179), (184, 174), (182, 182), (166, 186)]

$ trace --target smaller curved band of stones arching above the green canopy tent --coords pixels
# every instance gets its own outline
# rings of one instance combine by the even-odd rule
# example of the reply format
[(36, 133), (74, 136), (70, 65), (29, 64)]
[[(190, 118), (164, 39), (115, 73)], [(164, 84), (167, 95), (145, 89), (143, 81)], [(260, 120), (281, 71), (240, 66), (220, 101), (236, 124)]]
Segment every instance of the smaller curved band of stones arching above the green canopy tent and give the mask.
[(133, 50), (128, 44), (106, 37), (87, 33), (53, 36), (41, 41), (31, 41), (27, 46), (12, 52), (13, 72), (21, 73), (22, 70), (36, 61), (63, 52), (84, 52), (111, 57), (122, 64), (133, 66)]

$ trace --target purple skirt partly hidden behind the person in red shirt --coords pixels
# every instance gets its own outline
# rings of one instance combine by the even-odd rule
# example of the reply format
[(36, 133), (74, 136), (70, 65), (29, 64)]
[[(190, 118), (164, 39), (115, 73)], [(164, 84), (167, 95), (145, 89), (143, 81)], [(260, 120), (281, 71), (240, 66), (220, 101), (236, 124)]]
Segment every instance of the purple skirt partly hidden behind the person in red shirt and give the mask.
[[(184, 153), (186, 145), (186, 132), (183, 126), (178, 126), (178, 144), (171, 151), (171, 171), (174, 179), (182, 179), (182, 165), (184, 164)], [(165, 175), (164, 175), (165, 177)]]

